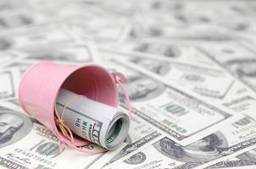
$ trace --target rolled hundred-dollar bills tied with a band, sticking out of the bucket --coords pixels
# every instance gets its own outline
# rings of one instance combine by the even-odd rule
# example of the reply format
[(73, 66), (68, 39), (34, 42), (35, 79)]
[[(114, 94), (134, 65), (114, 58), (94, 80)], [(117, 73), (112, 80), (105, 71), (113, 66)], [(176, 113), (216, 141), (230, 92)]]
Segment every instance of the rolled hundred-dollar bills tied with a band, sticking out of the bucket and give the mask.
[[(76, 96), (70, 90), (60, 89), (58, 92), (56, 108), (59, 116), (66, 106), (64, 124), (83, 139), (109, 150), (118, 148), (125, 140), (130, 126), (125, 112), (85, 96)], [(72, 98), (75, 98), (74, 101), (70, 101)]]

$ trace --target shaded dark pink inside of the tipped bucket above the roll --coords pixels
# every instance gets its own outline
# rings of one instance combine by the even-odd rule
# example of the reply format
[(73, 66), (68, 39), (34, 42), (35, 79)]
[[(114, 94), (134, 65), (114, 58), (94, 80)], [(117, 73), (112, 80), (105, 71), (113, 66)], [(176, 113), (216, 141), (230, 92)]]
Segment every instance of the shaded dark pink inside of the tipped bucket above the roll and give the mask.
[(62, 88), (109, 106), (118, 104), (114, 79), (105, 68), (99, 66), (92, 65), (77, 69), (65, 79)]

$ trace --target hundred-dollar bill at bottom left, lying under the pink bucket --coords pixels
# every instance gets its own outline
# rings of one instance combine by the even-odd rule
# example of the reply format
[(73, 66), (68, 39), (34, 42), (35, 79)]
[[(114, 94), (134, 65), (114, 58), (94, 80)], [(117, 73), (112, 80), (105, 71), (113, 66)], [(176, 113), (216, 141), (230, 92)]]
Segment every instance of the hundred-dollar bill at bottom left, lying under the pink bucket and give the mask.
[[(103, 154), (85, 155), (65, 147), (59, 150), (55, 135), (25, 113), (4, 107), (0, 103), (0, 167), (23, 169), (84, 169)], [(29, 144), (28, 144), (29, 143)], [(100, 149), (89, 144), (82, 149)], [(115, 151), (112, 151), (114, 156)], [(118, 151), (116, 151), (117, 153)], [(111, 155), (111, 154), (110, 154)], [(109, 156), (111, 159), (113, 156)], [(72, 162), (70, 162), (72, 161)]]

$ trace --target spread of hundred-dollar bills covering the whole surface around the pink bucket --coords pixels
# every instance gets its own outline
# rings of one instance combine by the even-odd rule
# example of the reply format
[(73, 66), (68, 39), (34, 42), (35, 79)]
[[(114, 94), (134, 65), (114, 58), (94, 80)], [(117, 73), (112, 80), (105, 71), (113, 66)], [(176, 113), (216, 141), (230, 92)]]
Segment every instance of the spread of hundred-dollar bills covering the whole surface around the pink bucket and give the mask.
[[(256, 168), (255, 17), (250, 0), (0, 1), (0, 169)], [(125, 73), (120, 148), (60, 152), (20, 108), (21, 75), (42, 60)]]

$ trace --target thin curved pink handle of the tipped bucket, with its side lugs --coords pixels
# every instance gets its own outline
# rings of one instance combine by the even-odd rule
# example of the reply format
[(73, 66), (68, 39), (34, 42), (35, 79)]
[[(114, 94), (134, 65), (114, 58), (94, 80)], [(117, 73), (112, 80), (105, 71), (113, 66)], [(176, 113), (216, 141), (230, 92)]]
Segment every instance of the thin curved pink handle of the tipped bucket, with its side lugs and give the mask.
[[(121, 74), (119, 72), (114, 72), (111, 73), (114, 77), (114, 80), (116, 82), (116, 84), (118, 86), (120, 86), (121, 90), (123, 90), (124, 95), (125, 95), (125, 100), (127, 101), (127, 105), (128, 105), (128, 111), (129, 111), (129, 121), (131, 122), (131, 101), (128, 95), (128, 91), (125, 89), (125, 85), (123, 85), (123, 83), (126, 81), (125, 75)], [(80, 151), (81, 153), (85, 153), (85, 154), (89, 154), (89, 155), (95, 155), (98, 153), (103, 153), (105, 151), (107, 151), (107, 149), (99, 149), (99, 150), (85, 150), (85, 149), (81, 149), (78, 146), (75, 146), (74, 143), (72, 143), (70, 140), (64, 139), (63, 136), (59, 136), (58, 137), (58, 143), (59, 143), (59, 149), (60, 151), (64, 150), (64, 144), (68, 144), (71, 148)], [(88, 145), (88, 144), (86, 144)]]

